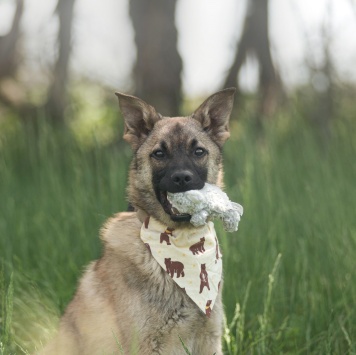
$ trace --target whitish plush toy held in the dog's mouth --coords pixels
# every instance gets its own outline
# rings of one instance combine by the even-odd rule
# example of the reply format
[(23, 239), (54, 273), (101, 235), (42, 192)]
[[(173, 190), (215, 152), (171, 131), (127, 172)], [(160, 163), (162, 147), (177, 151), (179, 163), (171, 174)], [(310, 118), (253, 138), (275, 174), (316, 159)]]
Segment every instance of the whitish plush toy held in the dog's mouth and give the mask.
[(205, 184), (201, 190), (168, 193), (168, 200), (179, 213), (189, 213), (190, 223), (195, 227), (207, 220), (219, 218), (227, 232), (237, 231), (243, 208), (232, 202), (219, 187)]

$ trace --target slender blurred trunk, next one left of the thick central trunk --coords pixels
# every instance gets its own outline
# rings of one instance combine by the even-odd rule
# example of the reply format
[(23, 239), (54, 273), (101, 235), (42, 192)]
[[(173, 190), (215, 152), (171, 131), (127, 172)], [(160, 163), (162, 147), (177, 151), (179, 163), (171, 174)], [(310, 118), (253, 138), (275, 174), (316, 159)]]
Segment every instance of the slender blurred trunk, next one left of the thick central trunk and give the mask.
[(51, 120), (56, 124), (64, 122), (64, 111), (68, 103), (68, 64), (71, 53), (74, 2), (75, 0), (58, 0), (56, 8), (59, 18), (58, 57), (53, 68), (52, 83), (45, 105)]

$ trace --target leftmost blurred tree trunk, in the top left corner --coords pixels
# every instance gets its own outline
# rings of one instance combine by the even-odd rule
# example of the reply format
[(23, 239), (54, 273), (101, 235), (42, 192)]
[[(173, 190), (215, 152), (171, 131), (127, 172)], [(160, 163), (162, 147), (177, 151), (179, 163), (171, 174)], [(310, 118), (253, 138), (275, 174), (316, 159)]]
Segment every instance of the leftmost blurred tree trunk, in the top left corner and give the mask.
[(10, 31), (0, 37), (0, 79), (11, 76), (18, 66), (16, 53), (20, 38), (20, 22), (24, 9), (24, 0), (16, 0), (15, 15)]

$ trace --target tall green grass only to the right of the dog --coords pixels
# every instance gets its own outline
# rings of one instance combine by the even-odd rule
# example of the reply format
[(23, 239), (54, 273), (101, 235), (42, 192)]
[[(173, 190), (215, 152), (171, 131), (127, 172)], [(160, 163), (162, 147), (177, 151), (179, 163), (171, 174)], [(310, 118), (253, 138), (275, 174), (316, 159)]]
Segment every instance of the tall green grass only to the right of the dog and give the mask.
[(245, 210), (223, 238), (237, 353), (356, 353), (355, 123), (334, 122), (328, 142), (297, 113), (263, 138), (248, 128), (225, 151), (227, 191)]

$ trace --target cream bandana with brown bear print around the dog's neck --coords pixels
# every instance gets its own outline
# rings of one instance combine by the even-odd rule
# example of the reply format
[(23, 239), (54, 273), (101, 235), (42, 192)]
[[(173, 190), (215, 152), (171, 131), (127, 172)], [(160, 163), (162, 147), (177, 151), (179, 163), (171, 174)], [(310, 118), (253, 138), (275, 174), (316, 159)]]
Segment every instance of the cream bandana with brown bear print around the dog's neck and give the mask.
[(141, 227), (141, 239), (160, 266), (209, 317), (222, 276), (222, 255), (214, 223), (172, 230), (147, 217)]

